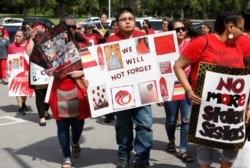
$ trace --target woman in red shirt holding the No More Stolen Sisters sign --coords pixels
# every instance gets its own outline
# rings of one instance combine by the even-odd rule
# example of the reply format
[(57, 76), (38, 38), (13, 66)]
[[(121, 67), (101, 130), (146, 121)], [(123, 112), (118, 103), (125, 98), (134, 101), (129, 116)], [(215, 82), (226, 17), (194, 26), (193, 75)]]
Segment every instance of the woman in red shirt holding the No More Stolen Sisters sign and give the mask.
[[(235, 44), (242, 33), (243, 26), (244, 19), (241, 15), (235, 12), (224, 12), (217, 16), (215, 33), (194, 39), (178, 58), (174, 65), (174, 71), (193, 105), (201, 103), (201, 98), (194, 92), (200, 62), (244, 68), (243, 54), (240, 47)], [(207, 45), (208, 47), (206, 47)], [(185, 74), (185, 68), (189, 65), (192, 65), (190, 74), (192, 86)], [(250, 117), (247, 118), (247, 120), (249, 119)], [(213, 151), (212, 147), (199, 145), (197, 159), (200, 168), (210, 168)], [(221, 167), (232, 167), (237, 154), (238, 150), (222, 150)]]

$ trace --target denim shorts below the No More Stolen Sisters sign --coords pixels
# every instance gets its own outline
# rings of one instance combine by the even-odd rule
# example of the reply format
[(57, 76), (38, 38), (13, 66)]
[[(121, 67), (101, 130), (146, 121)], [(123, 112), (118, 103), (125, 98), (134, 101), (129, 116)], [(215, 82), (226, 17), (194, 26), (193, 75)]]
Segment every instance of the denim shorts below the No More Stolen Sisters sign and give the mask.
[[(214, 148), (199, 146), (197, 149), (197, 160), (201, 165), (210, 165), (213, 161)], [(222, 150), (221, 159), (227, 162), (234, 162), (239, 150)]]

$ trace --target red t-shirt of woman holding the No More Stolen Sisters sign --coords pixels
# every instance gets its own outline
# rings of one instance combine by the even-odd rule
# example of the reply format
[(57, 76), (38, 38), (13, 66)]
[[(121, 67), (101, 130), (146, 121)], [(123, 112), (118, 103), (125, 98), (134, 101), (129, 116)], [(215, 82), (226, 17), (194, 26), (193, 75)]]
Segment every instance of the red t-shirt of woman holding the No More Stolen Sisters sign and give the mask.
[(198, 37), (182, 53), (192, 63), (191, 84), (195, 88), (199, 62), (244, 68), (241, 48), (221, 42), (213, 33)]

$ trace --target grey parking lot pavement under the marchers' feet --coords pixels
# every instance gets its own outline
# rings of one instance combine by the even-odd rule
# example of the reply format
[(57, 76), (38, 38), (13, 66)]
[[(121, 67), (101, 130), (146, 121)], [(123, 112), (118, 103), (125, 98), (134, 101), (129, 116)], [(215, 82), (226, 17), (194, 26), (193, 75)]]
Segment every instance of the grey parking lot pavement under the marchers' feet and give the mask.
[[(28, 98), (30, 111), (25, 116), (17, 115), (15, 97), (9, 97), (7, 86), (0, 85), (0, 168), (59, 168), (63, 160), (56, 136), (53, 119), (47, 121), (46, 127), (38, 125), (35, 98)], [(153, 109), (154, 146), (151, 151), (150, 165), (154, 168), (196, 168), (197, 162), (184, 163), (177, 154), (165, 151), (167, 136), (164, 129), (165, 113), (156, 105)], [(81, 156), (73, 159), (75, 168), (115, 168), (117, 162), (117, 144), (113, 121), (103, 123), (103, 117), (87, 119), (81, 137)], [(179, 140), (180, 131), (176, 131)], [(179, 144), (179, 141), (176, 141)], [(189, 152), (196, 155), (197, 145), (190, 144)], [(215, 153), (215, 164), (219, 167), (219, 156)], [(134, 155), (130, 165), (133, 167)]]

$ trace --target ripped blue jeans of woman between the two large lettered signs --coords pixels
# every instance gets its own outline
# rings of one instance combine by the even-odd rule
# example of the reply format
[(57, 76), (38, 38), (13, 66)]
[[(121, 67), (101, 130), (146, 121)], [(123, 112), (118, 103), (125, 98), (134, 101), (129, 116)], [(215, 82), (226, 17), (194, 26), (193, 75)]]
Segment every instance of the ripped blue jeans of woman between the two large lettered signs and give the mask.
[(191, 114), (191, 105), (186, 100), (175, 100), (164, 102), (166, 113), (165, 129), (170, 143), (175, 142), (176, 122), (178, 118), (178, 111), (181, 112), (181, 131), (180, 131), (180, 152), (187, 151), (187, 135), (188, 123)]

